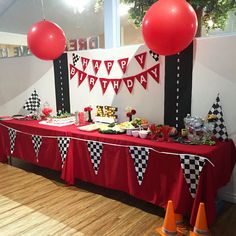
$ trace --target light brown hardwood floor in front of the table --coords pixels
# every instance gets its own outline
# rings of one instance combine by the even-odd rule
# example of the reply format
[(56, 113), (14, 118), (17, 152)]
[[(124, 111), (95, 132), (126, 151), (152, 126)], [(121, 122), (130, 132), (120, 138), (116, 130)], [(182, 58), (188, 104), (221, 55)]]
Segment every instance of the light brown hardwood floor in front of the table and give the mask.
[[(0, 163), (0, 236), (156, 236), (163, 224), (162, 208), (125, 193), (79, 181), (66, 186), (58, 172), (13, 165)], [(225, 204), (212, 235), (236, 235), (235, 219), (236, 205)]]

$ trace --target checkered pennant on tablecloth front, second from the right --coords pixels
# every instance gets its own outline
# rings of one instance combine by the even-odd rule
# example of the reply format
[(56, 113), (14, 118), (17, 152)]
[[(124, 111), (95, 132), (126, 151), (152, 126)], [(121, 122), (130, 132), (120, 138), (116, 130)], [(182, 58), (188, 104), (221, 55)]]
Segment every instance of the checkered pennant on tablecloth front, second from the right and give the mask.
[(129, 152), (132, 159), (134, 160), (134, 168), (137, 174), (138, 183), (141, 185), (147, 168), (149, 148), (130, 146)]

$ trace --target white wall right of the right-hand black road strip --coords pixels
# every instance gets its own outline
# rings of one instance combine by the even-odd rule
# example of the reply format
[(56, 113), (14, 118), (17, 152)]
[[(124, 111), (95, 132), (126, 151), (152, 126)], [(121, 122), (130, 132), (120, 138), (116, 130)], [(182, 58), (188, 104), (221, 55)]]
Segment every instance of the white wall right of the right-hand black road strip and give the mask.
[[(192, 115), (206, 117), (220, 93), (224, 120), (236, 143), (236, 35), (197, 38), (193, 64)], [(236, 203), (236, 167), (231, 182), (219, 191)]]

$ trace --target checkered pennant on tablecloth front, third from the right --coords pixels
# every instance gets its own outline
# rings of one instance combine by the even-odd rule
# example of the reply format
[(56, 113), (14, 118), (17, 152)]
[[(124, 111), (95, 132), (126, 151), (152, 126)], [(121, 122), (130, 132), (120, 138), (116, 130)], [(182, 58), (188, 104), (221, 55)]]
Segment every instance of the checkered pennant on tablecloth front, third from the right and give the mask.
[(87, 141), (88, 150), (90, 153), (90, 158), (93, 164), (93, 169), (95, 174), (98, 174), (99, 165), (102, 157), (103, 144), (96, 141)]

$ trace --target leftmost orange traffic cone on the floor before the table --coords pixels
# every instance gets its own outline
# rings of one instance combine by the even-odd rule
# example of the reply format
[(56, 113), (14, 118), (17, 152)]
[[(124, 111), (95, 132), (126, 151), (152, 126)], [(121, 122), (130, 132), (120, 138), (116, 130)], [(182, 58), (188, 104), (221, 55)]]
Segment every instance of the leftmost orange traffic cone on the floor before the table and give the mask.
[(177, 232), (174, 207), (172, 201), (170, 200), (167, 204), (164, 224), (162, 227), (158, 227), (156, 231), (162, 236), (181, 235), (179, 232)]

